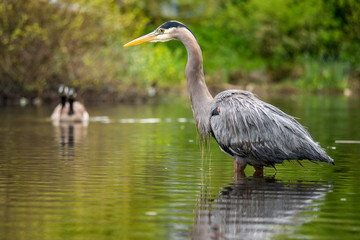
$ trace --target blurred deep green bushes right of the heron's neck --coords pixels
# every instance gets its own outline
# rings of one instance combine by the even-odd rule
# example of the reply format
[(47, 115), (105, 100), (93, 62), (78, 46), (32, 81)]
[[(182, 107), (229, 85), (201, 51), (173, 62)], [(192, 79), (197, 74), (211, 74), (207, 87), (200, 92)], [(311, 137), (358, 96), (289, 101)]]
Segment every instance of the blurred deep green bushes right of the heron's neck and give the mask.
[(212, 69), (216, 64), (229, 73), (265, 67), (270, 80), (280, 81), (300, 67), (305, 75), (299, 82), (306, 89), (346, 88), (351, 71), (359, 69), (358, 1), (249, 0), (218, 6), (216, 20), (205, 24), (204, 55)]

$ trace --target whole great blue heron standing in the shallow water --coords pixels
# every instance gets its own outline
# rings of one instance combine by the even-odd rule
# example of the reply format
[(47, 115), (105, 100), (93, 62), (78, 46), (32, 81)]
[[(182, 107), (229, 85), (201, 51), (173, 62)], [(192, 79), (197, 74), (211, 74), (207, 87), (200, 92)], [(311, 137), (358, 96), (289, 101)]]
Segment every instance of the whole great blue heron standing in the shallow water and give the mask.
[(213, 98), (206, 86), (203, 58), (194, 34), (184, 24), (169, 21), (124, 47), (144, 42), (180, 40), (188, 53), (187, 90), (201, 139), (212, 135), (221, 150), (234, 158), (235, 175), (247, 164), (262, 175), (264, 166), (284, 160), (334, 164), (326, 152), (292, 116), (256, 98), (251, 92), (227, 90)]

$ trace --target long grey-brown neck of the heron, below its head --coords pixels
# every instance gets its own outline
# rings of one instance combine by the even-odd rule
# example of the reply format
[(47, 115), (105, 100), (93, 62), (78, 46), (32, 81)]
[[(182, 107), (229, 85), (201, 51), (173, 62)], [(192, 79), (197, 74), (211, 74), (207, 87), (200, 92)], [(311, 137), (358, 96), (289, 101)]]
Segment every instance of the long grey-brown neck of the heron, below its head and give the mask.
[(203, 58), (200, 46), (194, 35), (187, 29), (182, 29), (178, 39), (184, 44), (188, 61), (185, 68), (187, 90), (190, 96), (196, 126), (201, 137), (206, 138), (210, 133), (210, 103), (213, 100), (205, 83)]

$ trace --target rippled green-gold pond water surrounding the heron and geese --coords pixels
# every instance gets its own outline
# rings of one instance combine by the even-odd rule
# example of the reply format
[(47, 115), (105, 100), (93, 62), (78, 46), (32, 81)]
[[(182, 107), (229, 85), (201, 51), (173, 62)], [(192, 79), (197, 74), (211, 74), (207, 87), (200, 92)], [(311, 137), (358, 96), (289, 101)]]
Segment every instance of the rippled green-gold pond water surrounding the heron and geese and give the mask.
[(265, 100), (336, 165), (234, 181), (215, 141), (201, 150), (188, 99), (88, 106), (88, 126), (0, 108), (0, 239), (359, 239), (359, 99)]

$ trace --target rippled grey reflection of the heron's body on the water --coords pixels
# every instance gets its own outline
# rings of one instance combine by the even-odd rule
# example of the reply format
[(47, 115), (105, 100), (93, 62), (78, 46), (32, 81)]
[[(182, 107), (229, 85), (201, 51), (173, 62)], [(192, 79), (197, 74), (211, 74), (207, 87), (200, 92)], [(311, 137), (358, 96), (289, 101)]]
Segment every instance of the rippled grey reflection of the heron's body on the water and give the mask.
[(314, 201), (324, 199), (331, 189), (328, 182), (238, 178), (215, 199), (202, 194), (192, 239), (270, 239), (288, 233), (286, 226), (304, 223), (306, 218), (295, 217), (302, 211), (316, 211), (319, 202)]

